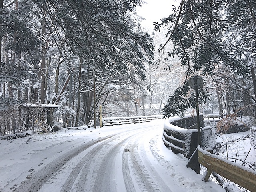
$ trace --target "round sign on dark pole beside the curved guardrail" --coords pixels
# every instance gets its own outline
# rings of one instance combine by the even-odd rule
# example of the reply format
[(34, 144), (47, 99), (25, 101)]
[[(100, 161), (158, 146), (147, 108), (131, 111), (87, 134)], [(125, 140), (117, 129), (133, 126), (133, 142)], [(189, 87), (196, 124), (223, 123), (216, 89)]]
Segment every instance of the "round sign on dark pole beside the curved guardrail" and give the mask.
[(196, 119), (197, 119), (197, 132), (198, 132), (198, 145), (201, 145), (201, 132), (200, 132), (200, 118), (199, 118), (199, 105), (198, 105), (198, 89), (204, 84), (202, 77), (198, 75), (191, 76), (188, 80), (188, 85), (196, 90)]

